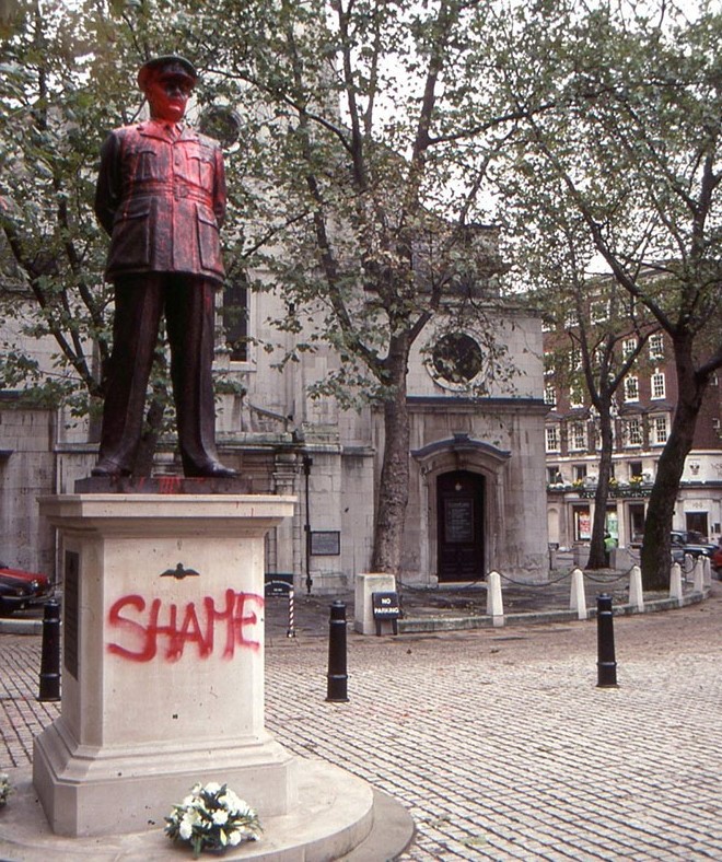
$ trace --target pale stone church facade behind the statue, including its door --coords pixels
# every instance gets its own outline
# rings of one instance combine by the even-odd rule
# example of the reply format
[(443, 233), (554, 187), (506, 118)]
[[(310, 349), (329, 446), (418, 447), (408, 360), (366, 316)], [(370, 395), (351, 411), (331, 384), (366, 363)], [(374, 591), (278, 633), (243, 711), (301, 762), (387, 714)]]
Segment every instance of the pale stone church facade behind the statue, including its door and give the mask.
[[(247, 335), (268, 335), (275, 302), (272, 293), (251, 294)], [(491, 570), (524, 581), (548, 575), (540, 321), (498, 299), (492, 319), (511, 375), (482, 397), (434, 372), (429, 356), (447, 336), (432, 325), (411, 357), (401, 583), (470, 582)], [(473, 327), (453, 338), (482, 350)], [(51, 346), (32, 347), (51, 353)], [(240, 468), (253, 492), (298, 499), (294, 517), (269, 536), (267, 572), (292, 573), (296, 589), (327, 594), (369, 571), (384, 441), (381, 408), (342, 410), (331, 397), (308, 397), (308, 385), (338, 361), (319, 350), (279, 371), (278, 356), (261, 349), (236, 357), (220, 348), (216, 363), (244, 391), (219, 396), (222, 459)], [(54, 573), (55, 540), (36, 499), (72, 493), (75, 479), (90, 474), (96, 443), (85, 421), (21, 404), (19, 393), (0, 400), (0, 559)], [(179, 471), (172, 440), (162, 441), (155, 471)]]

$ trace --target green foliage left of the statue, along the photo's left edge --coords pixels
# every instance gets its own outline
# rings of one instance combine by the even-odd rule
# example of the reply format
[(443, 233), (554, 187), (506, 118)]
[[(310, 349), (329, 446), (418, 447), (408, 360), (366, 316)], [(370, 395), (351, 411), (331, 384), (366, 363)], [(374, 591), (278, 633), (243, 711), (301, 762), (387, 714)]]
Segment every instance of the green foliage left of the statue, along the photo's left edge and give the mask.
[[(88, 86), (97, 20), (81, 5), (19, 3), (0, 45), (0, 302), (16, 331), (2, 374), (5, 385), (27, 383), (36, 404), (72, 401), (80, 411), (89, 406), (81, 393), (85, 401), (100, 393), (93, 346), (102, 360), (108, 340), (104, 240), (91, 202), (103, 129), (116, 117)], [(112, 78), (105, 69), (103, 85)], [(28, 354), (46, 337), (57, 353), (40, 369)]]

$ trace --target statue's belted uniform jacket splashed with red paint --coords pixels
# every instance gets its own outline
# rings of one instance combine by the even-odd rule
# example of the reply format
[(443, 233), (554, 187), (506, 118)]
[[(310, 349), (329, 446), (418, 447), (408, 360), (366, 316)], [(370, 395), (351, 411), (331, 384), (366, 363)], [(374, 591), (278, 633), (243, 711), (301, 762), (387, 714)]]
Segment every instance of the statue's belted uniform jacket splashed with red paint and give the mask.
[(219, 144), (150, 120), (110, 132), (101, 151), (95, 212), (110, 234), (108, 281), (177, 272), (222, 281), (225, 176)]

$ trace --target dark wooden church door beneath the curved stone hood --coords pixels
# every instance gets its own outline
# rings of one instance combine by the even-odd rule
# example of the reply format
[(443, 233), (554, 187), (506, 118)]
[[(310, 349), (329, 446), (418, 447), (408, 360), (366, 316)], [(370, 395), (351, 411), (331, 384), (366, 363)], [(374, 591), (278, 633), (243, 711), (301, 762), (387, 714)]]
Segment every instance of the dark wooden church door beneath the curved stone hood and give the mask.
[(484, 476), (444, 473), (436, 479), (436, 494), (439, 580), (484, 578)]

